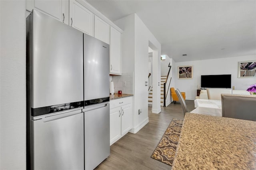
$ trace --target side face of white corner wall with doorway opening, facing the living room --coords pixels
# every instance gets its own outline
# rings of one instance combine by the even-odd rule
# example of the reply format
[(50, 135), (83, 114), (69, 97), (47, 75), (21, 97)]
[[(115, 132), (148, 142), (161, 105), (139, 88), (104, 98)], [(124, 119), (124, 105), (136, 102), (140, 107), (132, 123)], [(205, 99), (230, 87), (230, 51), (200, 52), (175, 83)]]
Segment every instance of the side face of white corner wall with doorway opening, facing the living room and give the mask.
[[(152, 43), (154, 48), (158, 49), (158, 54), (155, 54), (153, 49), (153, 98), (158, 98), (157, 94), (154, 94), (156, 87), (159, 91), (159, 100), (153, 99), (152, 110), (155, 109), (157, 111), (161, 111), (160, 108), (160, 86), (157, 85), (156, 82), (160, 82), (160, 51), (161, 44), (156, 40), (153, 34), (148, 30), (145, 24), (140, 20), (140, 18), (135, 14), (135, 93), (137, 98), (135, 99), (135, 111), (138, 109), (142, 109), (142, 111), (146, 111), (146, 114), (138, 115), (135, 114), (138, 119), (135, 119), (135, 125), (139, 125), (145, 119), (148, 119), (148, 86), (145, 86), (145, 81), (148, 81), (148, 46), (149, 42)], [(158, 57), (155, 57), (157, 55)], [(155, 69), (158, 69), (157, 71)], [(156, 80), (157, 79), (157, 80)], [(158, 92), (157, 91), (157, 92)], [(158, 102), (158, 105), (154, 105), (154, 102)], [(157, 112), (156, 111), (156, 112)], [(159, 112), (160, 112), (159, 111)], [(158, 113), (159, 113), (158, 112)], [(136, 123), (136, 121), (138, 121)]]

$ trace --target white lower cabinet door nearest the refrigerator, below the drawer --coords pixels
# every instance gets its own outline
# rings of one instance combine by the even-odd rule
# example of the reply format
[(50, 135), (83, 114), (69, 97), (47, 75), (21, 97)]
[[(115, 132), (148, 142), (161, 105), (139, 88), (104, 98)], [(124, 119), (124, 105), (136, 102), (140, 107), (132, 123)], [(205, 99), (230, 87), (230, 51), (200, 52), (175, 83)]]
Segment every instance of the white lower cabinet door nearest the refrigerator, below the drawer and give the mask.
[(121, 136), (121, 108), (110, 109), (110, 145)]

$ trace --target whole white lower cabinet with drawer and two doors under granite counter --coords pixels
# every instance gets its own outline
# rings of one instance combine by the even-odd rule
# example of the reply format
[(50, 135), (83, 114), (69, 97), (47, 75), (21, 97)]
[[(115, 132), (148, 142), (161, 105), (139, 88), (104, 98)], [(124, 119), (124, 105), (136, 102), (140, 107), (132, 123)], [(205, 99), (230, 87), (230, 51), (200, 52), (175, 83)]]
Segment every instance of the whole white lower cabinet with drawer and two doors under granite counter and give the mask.
[(110, 101), (110, 145), (132, 129), (132, 97)]

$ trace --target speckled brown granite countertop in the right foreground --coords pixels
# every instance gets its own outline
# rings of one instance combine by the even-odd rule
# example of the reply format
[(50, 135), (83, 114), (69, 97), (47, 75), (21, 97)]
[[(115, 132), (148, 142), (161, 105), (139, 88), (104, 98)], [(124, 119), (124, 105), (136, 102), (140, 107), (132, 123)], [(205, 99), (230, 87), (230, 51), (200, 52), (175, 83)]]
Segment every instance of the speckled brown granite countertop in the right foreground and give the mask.
[(172, 170), (256, 169), (256, 122), (186, 113)]

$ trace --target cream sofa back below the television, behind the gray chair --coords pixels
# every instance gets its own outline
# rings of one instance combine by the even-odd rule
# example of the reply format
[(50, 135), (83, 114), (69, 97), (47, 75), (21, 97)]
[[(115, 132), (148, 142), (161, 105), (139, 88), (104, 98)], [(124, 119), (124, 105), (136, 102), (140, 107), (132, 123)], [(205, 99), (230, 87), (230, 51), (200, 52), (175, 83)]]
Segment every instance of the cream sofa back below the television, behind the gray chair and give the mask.
[[(209, 91), (210, 95), (208, 95), (207, 90)], [(221, 94), (250, 95), (250, 92), (246, 90), (232, 89), (203, 89), (200, 91), (200, 95), (196, 96), (196, 99), (221, 100)]]

